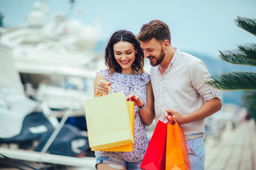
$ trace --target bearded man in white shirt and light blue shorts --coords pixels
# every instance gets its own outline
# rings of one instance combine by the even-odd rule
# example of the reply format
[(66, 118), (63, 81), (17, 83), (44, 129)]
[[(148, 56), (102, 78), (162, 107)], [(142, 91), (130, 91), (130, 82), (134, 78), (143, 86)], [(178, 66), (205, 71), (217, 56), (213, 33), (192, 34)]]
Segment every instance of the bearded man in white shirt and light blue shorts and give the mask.
[(218, 91), (205, 83), (210, 77), (201, 60), (171, 46), (166, 23), (154, 20), (142, 26), (137, 36), (150, 60), (156, 122), (171, 115), (186, 137), (191, 170), (204, 169), (204, 118), (220, 110)]

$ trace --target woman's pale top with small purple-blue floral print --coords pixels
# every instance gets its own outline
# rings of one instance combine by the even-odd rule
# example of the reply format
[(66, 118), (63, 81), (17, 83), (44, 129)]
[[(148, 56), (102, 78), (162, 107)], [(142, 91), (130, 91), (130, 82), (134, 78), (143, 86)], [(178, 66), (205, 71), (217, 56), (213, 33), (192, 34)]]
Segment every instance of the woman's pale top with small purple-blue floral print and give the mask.
[[(126, 96), (136, 94), (146, 101), (146, 84), (150, 80), (149, 74), (122, 74), (117, 72), (109, 74), (107, 69), (101, 70), (99, 73), (112, 83), (110, 87), (114, 92), (124, 91)], [(115, 155), (127, 162), (137, 162), (143, 159), (147, 146), (146, 125), (142, 122), (139, 108), (134, 106), (134, 150), (132, 152), (95, 151), (95, 156)]]

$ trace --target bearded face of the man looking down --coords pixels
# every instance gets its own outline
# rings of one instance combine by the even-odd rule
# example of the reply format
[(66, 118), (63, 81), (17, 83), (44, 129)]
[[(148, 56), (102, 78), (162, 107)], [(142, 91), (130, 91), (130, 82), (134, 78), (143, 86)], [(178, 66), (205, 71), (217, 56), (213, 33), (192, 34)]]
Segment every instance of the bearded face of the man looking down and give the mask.
[(144, 51), (144, 57), (148, 58), (151, 66), (156, 66), (161, 64), (164, 60), (165, 52), (161, 45), (161, 42), (152, 38), (147, 42), (141, 41), (141, 47)]

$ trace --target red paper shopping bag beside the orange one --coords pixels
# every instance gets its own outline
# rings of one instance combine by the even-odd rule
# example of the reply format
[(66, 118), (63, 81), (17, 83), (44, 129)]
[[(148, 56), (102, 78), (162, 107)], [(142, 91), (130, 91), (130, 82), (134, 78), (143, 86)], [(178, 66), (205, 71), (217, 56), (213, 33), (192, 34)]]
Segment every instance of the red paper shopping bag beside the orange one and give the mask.
[(140, 166), (141, 169), (165, 170), (166, 132), (167, 124), (159, 120), (149, 142), (149, 147), (146, 149)]

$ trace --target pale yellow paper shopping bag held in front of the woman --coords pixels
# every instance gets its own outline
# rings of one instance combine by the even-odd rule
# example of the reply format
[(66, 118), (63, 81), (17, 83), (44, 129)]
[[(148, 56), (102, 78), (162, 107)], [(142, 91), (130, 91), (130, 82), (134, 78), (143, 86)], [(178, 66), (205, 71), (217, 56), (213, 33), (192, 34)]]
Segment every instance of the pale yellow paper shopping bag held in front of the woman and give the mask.
[(134, 143), (123, 92), (85, 100), (89, 145), (101, 150)]

